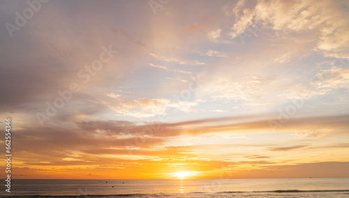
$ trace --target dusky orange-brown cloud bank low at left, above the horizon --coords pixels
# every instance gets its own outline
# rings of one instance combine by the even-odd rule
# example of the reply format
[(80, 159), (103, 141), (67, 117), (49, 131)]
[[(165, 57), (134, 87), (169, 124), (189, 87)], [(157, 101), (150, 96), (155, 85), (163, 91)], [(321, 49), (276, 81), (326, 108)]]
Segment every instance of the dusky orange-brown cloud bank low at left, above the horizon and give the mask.
[[(150, 148), (165, 142), (160, 137), (109, 137), (103, 135), (89, 135), (71, 129), (62, 128), (33, 128), (13, 132), (16, 144), (13, 152), (16, 158), (31, 165), (75, 165), (98, 163), (89, 159), (84, 153), (112, 154), (112, 155), (155, 155), (157, 151), (136, 150), (136, 148)], [(112, 151), (112, 148), (119, 148)], [(82, 155), (80, 155), (80, 154)], [(33, 158), (35, 156), (35, 158)], [(64, 161), (73, 158), (76, 161)], [(89, 159), (89, 160), (87, 160)], [(45, 164), (43, 162), (50, 162)], [(53, 163), (53, 164), (52, 164)]]

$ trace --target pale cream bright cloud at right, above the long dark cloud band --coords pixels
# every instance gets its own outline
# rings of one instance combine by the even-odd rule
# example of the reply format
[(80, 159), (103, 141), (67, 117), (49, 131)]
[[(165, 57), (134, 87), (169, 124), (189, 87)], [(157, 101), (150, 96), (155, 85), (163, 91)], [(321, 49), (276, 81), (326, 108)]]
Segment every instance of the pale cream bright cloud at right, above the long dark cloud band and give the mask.
[[(289, 59), (283, 55), (276, 61), (288, 62)], [(343, 94), (341, 89), (349, 90), (349, 69), (323, 66), (320, 70), (315, 70), (315, 74), (304, 73), (297, 77), (287, 73), (279, 76), (271, 73), (247, 74), (242, 77), (225, 77), (223, 74), (207, 76), (197, 93), (198, 96), (209, 96), (214, 100), (233, 100), (244, 105), (265, 106), (299, 98), (311, 100), (327, 94)]]

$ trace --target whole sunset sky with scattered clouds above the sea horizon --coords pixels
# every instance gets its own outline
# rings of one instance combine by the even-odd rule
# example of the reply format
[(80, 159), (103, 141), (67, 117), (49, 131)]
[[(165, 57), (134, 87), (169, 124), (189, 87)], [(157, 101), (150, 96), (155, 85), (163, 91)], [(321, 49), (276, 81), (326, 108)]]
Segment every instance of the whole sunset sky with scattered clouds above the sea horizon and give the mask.
[(11, 176), (348, 177), (348, 14), (327, 0), (1, 0)]

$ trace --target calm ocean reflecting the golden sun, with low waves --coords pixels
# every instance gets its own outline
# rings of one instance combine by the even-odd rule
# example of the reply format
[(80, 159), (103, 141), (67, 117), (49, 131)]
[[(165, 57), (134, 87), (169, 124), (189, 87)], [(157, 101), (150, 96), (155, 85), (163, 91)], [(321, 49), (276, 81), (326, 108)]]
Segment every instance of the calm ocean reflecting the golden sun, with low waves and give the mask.
[[(4, 182), (3, 182), (4, 183)], [(349, 197), (349, 178), (11, 181), (1, 197)]]

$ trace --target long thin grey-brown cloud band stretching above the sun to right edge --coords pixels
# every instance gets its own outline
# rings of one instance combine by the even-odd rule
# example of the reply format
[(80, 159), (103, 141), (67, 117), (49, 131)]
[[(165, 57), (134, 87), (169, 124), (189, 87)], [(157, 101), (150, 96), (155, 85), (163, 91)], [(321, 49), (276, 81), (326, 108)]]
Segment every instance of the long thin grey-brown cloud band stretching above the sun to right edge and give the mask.
[[(171, 137), (184, 134), (200, 135), (210, 132), (225, 132), (237, 130), (273, 130), (272, 126), (270, 125), (271, 120), (244, 121), (246, 119), (255, 119), (255, 116), (235, 116), (218, 119), (201, 119), (179, 123), (147, 123), (144, 125), (136, 125), (135, 123), (131, 123), (129, 121), (83, 121), (78, 122), (77, 125), (81, 129), (89, 132), (93, 132), (94, 130), (103, 130), (106, 135), (147, 134), (154, 137)], [(279, 125), (279, 128), (284, 130), (324, 127), (343, 129), (349, 127), (348, 120), (348, 115), (292, 118), (288, 123)], [(231, 123), (229, 123), (230, 121)], [(205, 127), (195, 124), (205, 124)], [(183, 127), (186, 127), (185, 130), (182, 129)]]

